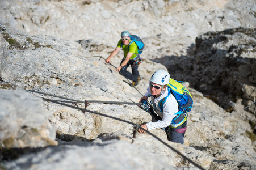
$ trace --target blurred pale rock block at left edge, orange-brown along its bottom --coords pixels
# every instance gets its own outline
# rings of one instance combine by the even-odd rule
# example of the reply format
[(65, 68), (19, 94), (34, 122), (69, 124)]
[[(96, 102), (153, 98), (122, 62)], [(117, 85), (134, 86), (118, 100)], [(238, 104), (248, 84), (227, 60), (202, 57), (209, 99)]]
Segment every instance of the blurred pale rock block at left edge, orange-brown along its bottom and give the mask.
[(57, 145), (51, 113), (43, 100), (23, 91), (0, 91), (0, 141), (3, 148), (46, 147)]

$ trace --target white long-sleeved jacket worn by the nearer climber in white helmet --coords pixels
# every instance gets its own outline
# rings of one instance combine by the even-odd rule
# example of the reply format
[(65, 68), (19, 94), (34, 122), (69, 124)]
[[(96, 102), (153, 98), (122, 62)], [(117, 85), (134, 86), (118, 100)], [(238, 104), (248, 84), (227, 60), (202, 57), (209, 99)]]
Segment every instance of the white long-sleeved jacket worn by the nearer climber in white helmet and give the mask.
[(151, 96), (152, 103), (154, 104), (156, 108), (157, 114), (162, 118), (162, 120), (159, 120), (157, 122), (148, 122), (146, 124), (148, 130), (151, 129), (157, 129), (157, 128), (165, 128), (171, 124), (171, 120), (175, 117), (175, 113), (178, 112), (178, 103), (175, 99), (175, 97), (170, 94), (169, 97), (167, 97), (165, 104), (163, 104), (163, 112), (160, 112), (160, 108), (158, 106), (159, 101), (163, 99), (164, 97), (168, 96), (168, 90), (167, 87), (162, 92), (162, 94), (157, 97), (156, 99), (151, 95), (150, 87), (148, 87), (147, 92), (144, 96)]

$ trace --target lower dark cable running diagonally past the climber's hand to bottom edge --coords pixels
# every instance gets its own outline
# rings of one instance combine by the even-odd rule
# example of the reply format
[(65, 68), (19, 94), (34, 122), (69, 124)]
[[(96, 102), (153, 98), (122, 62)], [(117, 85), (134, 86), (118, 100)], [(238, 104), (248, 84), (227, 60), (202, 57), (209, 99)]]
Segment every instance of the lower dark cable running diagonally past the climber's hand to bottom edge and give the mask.
[(69, 105), (69, 104), (65, 104), (65, 103), (60, 103), (56, 100), (51, 100), (51, 99), (45, 99), (44, 97), (41, 97), (43, 100), (45, 101), (49, 101), (49, 102), (52, 102), (52, 103), (56, 103), (56, 104), (60, 104), (60, 105), (64, 105), (66, 107), (70, 107), (70, 108), (74, 108), (74, 109), (78, 109), (80, 111), (83, 111), (83, 113), (85, 112), (89, 112), (89, 113), (94, 113), (94, 114), (98, 114), (100, 116), (104, 116), (104, 117), (108, 117), (108, 118), (112, 118), (114, 120), (118, 120), (118, 121), (122, 121), (122, 122), (125, 122), (127, 124), (131, 124), (133, 125), (133, 138), (136, 138), (136, 131), (138, 129), (142, 129), (144, 130), (146, 133), (148, 133), (149, 135), (152, 135), (152, 137), (156, 138), (158, 141), (160, 141), (161, 143), (163, 143), (163, 145), (169, 147), (171, 150), (173, 150), (174, 152), (176, 152), (178, 155), (182, 156), (182, 158), (186, 159), (188, 162), (192, 163), (193, 165), (195, 165), (195, 167), (198, 167), (199, 169), (202, 169), (204, 170), (202, 167), (200, 167), (200, 165), (198, 165), (197, 163), (195, 163), (194, 161), (192, 161), (190, 158), (187, 158), (187, 156), (181, 154), (181, 152), (179, 152), (178, 150), (175, 150), (175, 148), (171, 147), (170, 145), (168, 145), (166, 142), (162, 141), (162, 139), (158, 138), (156, 135), (150, 133), (148, 130), (144, 129), (144, 128), (141, 128), (141, 126), (139, 124), (135, 124), (133, 122), (130, 122), (130, 121), (127, 121), (127, 120), (123, 120), (121, 118), (117, 118), (117, 117), (114, 117), (114, 116), (109, 116), (107, 114), (102, 114), (102, 113), (99, 113), (99, 112), (94, 112), (94, 111), (90, 111), (90, 110), (87, 110), (87, 109), (82, 109), (82, 108), (78, 108), (78, 107), (75, 107), (73, 105)]

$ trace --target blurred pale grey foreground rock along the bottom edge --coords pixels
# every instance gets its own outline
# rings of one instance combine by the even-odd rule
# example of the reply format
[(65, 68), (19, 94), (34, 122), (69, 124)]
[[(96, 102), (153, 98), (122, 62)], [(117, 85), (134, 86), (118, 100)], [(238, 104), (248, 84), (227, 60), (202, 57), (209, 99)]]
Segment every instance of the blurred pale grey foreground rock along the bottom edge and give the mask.
[[(59, 147), (48, 147), (40, 154), (28, 155), (31, 164), (22, 160), (7, 163), (6, 168), (14, 169), (176, 169), (153, 158), (144, 150), (131, 143), (111, 140), (103, 143), (73, 142)], [(48, 160), (51, 160), (50, 162)]]

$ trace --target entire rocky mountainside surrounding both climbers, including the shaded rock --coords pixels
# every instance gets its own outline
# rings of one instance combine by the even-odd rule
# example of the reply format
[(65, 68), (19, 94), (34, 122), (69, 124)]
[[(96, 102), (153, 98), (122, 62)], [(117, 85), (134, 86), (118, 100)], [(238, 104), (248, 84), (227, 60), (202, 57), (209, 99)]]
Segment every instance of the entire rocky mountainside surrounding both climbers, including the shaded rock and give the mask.
[[(0, 167), (198, 169), (186, 156), (204, 169), (256, 169), (255, 116), (253, 108), (243, 110), (255, 97), (256, 22), (249, 15), (254, 4), (1, 1)], [(226, 29), (231, 27), (236, 29)], [(115, 70), (123, 53), (111, 65), (104, 62), (124, 29), (136, 32), (146, 44), (139, 66), (143, 79), (136, 88)], [(156, 58), (174, 78), (190, 84), (194, 108), (188, 113), (184, 145), (167, 141), (162, 129), (150, 131), (183, 156), (149, 134), (133, 138), (131, 124), (88, 112), (133, 124), (156, 121), (137, 104), (93, 102), (138, 102), (154, 71), (167, 70), (151, 60)], [(187, 71), (192, 78), (185, 76)], [(229, 90), (229, 84), (236, 85)], [(216, 104), (219, 100), (205, 97), (213, 93), (228, 101), (236, 97), (230, 112)], [(87, 112), (81, 111), (85, 107)]]

